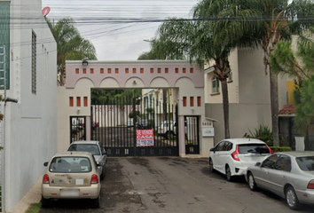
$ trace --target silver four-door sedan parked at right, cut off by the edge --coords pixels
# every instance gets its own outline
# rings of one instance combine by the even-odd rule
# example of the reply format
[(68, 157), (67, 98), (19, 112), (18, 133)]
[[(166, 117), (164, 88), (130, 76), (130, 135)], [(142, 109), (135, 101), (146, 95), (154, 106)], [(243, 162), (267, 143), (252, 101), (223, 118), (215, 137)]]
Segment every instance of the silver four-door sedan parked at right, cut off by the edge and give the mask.
[(290, 209), (299, 209), (301, 203), (314, 204), (314, 152), (272, 154), (248, 167), (246, 179), (252, 191), (260, 187), (276, 193)]

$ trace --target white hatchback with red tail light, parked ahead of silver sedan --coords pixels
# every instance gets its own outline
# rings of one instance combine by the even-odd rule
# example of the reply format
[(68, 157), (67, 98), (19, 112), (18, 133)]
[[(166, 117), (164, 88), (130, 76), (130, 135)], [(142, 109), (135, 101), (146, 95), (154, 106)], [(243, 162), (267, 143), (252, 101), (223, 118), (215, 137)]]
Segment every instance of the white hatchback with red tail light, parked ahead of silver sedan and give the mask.
[(229, 138), (209, 150), (209, 170), (223, 173), (228, 181), (234, 176), (245, 175), (247, 167), (263, 162), (271, 148), (255, 138)]

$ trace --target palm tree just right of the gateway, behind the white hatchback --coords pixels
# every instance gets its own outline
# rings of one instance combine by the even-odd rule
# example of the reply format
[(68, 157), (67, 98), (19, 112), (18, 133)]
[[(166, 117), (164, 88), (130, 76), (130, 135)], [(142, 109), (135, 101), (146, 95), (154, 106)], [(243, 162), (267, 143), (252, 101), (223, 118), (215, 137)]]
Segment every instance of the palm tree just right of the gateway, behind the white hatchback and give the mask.
[[(229, 55), (237, 46), (255, 46), (257, 43), (253, 39), (243, 39), (249, 36), (251, 28), (255, 27), (253, 21), (246, 22), (247, 28), (242, 31), (234, 31), (236, 28), (241, 28), (242, 22), (207, 20), (212, 17), (229, 16), (230, 14), (225, 10), (216, 10), (217, 7), (224, 5), (222, 1), (201, 1), (192, 9), (193, 20), (171, 18), (165, 21), (161, 24), (158, 37), (154, 40), (158, 41), (159, 45), (153, 46), (152, 51), (165, 59), (171, 59), (173, 56), (184, 59), (188, 56), (191, 61), (196, 59), (200, 66), (203, 66), (205, 59), (215, 61), (214, 74), (222, 84), (224, 137), (230, 138), (227, 78), (232, 69)], [(245, 18), (246, 13), (246, 11), (239, 11), (238, 15)]]

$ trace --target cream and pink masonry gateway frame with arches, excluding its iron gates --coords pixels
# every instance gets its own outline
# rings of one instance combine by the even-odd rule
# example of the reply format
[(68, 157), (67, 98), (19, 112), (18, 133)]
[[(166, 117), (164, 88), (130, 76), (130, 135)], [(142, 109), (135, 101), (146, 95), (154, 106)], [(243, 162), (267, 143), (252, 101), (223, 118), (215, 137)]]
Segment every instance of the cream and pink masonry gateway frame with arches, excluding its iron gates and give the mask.
[(71, 142), (71, 117), (86, 119), (85, 139), (90, 139), (92, 88), (171, 88), (173, 94), (169, 102), (177, 106), (177, 154), (184, 156), (191, 153), (185, 150), (184, 116), (198, 117), (200, 151), (197, 154), (208, 156), (208, 149), (214, 146), (213, 135), (206, 133), (208, 128), (212, 130), (213, 124), (205, 117), (204, 72), (198, 64), (183, 60), (137, 60), (88, 61), (88, 65), (83, 66), (82, 61), (67, 61), (66, 70), (66, 86), (58, 89), (59, 151), (67, 150)]

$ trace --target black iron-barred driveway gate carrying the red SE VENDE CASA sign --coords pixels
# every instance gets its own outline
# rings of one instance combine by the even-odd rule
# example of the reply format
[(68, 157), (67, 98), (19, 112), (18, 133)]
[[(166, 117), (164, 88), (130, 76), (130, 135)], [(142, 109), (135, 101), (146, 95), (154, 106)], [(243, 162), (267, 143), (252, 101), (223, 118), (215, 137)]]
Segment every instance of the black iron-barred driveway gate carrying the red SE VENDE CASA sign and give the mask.
[[(177, 107), (140, 97), (114, 99), (110, 104), (91, 106), (90, 110), (90, 138), (103, 143), (108, 155), (178, 155), (178, 137), (174, 130)], [(138, 135), (148, 138), (137, 138)]]

